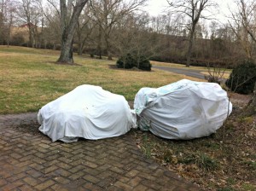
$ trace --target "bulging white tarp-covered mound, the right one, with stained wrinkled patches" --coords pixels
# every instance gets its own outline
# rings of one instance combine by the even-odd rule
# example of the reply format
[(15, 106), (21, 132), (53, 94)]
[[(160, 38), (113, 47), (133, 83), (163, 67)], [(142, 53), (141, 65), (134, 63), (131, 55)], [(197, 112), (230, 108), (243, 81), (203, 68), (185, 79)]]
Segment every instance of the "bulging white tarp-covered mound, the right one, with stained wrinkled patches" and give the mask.
[(188, 79), (137, 92), (134, 109), (141, 130), (167, 139), (209, 136), (232, 111), (226, 91), (218, 84)]

